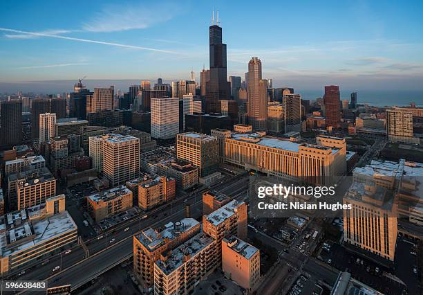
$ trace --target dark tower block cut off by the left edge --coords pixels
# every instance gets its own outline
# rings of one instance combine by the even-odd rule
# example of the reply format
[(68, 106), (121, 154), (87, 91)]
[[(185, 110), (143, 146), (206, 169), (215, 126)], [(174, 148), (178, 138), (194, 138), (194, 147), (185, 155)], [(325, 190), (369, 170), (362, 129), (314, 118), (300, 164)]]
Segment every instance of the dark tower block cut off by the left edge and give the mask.
[(22, 142), (22, 102), (10, 100), (0, 102), (0, 145), (12, 147)]

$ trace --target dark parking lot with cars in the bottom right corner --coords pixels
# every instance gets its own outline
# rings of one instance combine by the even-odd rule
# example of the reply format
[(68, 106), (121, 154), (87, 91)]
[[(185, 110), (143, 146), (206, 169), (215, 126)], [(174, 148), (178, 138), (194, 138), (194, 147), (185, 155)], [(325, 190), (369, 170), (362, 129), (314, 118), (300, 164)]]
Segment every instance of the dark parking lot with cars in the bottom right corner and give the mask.
[[(402, 283), (390, 278), (389, 274), (393, 272), (392, 269), (375, 262), (375, 260), (370, 260), (359, 253), (349, 251), (337, 243), (326, 243), (330, 244), (330, 247), (323, 246), (318, 258), (333, 268), (339, 271), (350, 272), (353, 278), (384, 294), (402, 294), (406, 288)], [(402, 256), (402, 260), (406, 259)], [(398, 270), (395, 271), (395, 273), (397, 272)], [(395, 273), (394, 275), (396, 275)], [(401, 274), (397, 274), (397, 276), (400, 278)], [(417, 276), (415, 278), (417, 279)], [(411, 292), (410, 294), (417, 293)]]

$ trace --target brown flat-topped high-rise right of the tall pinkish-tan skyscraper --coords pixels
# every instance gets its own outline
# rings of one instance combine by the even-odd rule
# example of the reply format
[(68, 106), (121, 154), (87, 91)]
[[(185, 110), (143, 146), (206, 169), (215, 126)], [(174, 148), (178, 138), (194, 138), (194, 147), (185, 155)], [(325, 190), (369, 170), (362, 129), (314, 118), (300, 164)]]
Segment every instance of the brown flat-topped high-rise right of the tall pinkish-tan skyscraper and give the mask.
[(301, 132), (301, 96), (299, 94), (285, 94), (283, 105), (285, 132)]

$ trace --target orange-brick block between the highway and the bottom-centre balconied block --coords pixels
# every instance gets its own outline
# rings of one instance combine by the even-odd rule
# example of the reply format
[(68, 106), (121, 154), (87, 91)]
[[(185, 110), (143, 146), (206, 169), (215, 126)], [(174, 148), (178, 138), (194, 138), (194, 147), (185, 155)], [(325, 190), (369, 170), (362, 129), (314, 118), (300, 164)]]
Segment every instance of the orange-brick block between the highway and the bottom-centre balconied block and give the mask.
[(147, 229), (133, 237), (133, 272), (144, 287), (154, 283), (154, 262), (162, 253), (178, 247), (200, 232), (200, 223), (193, 218), (169, 222), (162, 231)]

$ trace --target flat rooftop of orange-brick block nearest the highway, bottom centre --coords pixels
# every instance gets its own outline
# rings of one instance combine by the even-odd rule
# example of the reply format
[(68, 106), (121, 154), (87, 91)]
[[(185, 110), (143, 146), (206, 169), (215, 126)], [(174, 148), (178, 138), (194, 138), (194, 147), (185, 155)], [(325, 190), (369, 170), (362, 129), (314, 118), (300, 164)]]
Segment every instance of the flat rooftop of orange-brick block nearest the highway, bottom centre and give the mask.
[(160, 232), (149, 228), (136, 235), (135, 238), (137, 238), (144, 247), (149, 249), (149, 251), (154, 251), (164, 244), (165, 239), (173, 240), (178, 238), (182, 233), (194, 229), (194, 227), (199, 224), (200, 222), (194, 220), (194, 218), (184, 218), (180, 222), (169, 222)]

